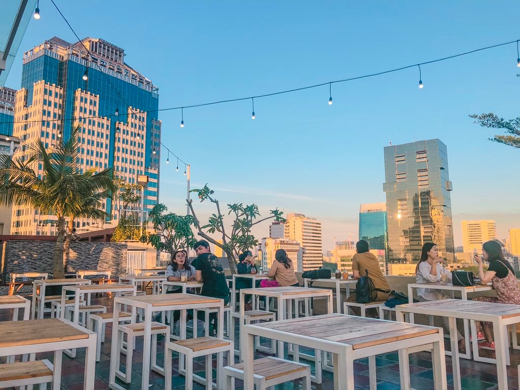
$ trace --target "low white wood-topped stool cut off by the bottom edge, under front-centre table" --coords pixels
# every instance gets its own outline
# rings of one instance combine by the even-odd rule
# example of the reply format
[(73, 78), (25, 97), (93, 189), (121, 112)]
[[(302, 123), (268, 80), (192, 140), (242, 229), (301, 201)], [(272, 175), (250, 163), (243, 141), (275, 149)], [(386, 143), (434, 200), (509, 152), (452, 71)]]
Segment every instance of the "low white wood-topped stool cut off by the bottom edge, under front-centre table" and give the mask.
[[(244, 363), (224, 367), (226, 390), (235, 389), (233, 379), (244, 380)], [(310, 366), (302, 363), (265, 357), (253, 361), (254, 384), (256, 390), (266, 390), (280, 383), (302, 379), (302, 389), (310, 390)]]

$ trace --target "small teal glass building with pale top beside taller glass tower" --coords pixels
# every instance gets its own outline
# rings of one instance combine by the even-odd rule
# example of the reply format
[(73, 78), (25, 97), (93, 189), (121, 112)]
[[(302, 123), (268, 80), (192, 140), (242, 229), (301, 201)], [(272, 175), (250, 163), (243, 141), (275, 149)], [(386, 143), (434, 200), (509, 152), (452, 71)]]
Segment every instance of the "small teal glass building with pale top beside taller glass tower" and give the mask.
[(359, 206), (359, 239), (366, 240), (370, 249), (387, 250), (385, 203), (365, 203)]

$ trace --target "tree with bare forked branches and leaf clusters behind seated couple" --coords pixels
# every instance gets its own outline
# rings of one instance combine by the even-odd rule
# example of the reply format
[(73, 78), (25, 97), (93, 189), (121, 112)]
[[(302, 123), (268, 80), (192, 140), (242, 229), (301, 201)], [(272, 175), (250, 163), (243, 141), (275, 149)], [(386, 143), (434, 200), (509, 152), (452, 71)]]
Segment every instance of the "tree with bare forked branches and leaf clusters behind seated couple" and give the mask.
[[(285, 222), (285, 218), (282, 217), (283, 212), (271, 210), (268, 217), (255, 220), (256, 217), (260, 216), (258, 212), (258, 206), (255, 204), (244, 205), (243, 203), (228, 204), (228, 215), (232, 215), (233, 222), (231, 223), (231, 232), (226, 232), (224, 226), (224, 215), (220, 211), (220, 204), (218, 200), (212, 197), (215, 193), (210, 189), (207, 184), (202, 189), (194, 189), (190, 192), (196, 192), (200, 201), (204, 202), (209, 200), (215, 204), (216, 214), (212, 214), (208, 220), (208, 223), (201, 226), (199, 219), (197, 218), (195, 211), (193, 210), (192, 201), (188, 201), (188, 205), (191, 210), (191, 214), (194, 217), (195, 227), (198, 230), (198, 235), (203, 237), (209, 242), (212, 242), (224, 252), (226, 252), (229, 268), (232, 274), (236, 274), (237, 258), (241, 252), (250, 250), (258, 245), (258, 240), (251, 234), (251, 228), (267, 219), (274, 218), (277, 222)], [(205, 231), (204, 231), (205, 230)], [(229, 230), (228, 230), (229, 231)], [(222, 243), (213, 239), (210, 234), (219, 233), (222, 235)]]

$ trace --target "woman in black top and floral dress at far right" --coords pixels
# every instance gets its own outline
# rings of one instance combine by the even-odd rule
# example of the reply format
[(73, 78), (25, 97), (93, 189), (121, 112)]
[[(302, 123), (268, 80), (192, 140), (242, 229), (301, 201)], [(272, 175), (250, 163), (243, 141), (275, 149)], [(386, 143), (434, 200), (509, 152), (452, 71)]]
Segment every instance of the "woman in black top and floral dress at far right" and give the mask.
[[(491, 282), (497, 296), (477, 296), (473, 301), (507, 303), (510, 305), (520, 305), (520, 289), (516, 281), (515, 272), (511, 264), (504, 258), (502, 248), (497, 241), (487, 241), (482, 245), (482, 257), (478, 254), (473, 255), (473, 259), (478, 264), (478, 275), (480, 284)], [(482, 260), (489, 262), (486, 272), (483, 269)], [(491, 322), (480, 322), (486, 340), (479, 346), (486, 349), (495, 349)]]

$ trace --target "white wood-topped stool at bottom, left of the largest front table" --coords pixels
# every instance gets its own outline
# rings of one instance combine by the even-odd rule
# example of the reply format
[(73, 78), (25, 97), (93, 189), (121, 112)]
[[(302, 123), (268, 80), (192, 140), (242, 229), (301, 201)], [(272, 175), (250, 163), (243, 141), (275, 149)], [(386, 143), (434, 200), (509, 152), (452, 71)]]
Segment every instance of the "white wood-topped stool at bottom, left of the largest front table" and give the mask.
[[(197, 381), (206, 386), (206, 390), (212, 390), (213, 386), (219, 389), (223, 387), (223, 369), (224, 356), (227, 352), (228, 361), (235, 362), (235, 355), (233, 354), (233, 342), (224, 339), (217, 339), (216, 337), (198, 337), (197, 339), (168, 341), (165, 343), (164, 350), (164, 388), (170, 390), (172, 388), (172, 352), (175, 351), (179, 355), (186, 356), (186, 390), (192, 390), (193, 381)], [(217, 378), (216, 383), (213, 383), (213, 364), (212, 355), (217, 356)], [(193, 373), (193, 359), (199, 356), (206, 357), (206, 378)], [(180, 362), (180, 359), (179, 359)], [(179, 365), (179, 372), (182, 369)], [(227, 390), (227, 389), (226, 389)]]

